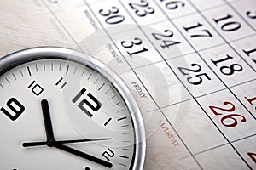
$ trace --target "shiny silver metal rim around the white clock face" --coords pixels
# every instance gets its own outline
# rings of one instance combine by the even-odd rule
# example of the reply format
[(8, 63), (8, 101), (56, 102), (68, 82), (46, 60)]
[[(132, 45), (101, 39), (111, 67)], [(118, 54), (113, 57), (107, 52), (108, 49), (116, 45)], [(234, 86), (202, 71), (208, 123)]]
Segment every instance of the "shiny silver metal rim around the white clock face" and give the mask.
[(145, 129), (143, 125), (143, 117), (136, 100), (131, 94), (130, 89), (125, 82), (111, 69), (108, 65), (103, 64), (98, 59), (91, 57), (88, 54), (83, 54), (69, 48), (59, 47), (40, 47), (26, 48), (9, 54), (0, 59), (0, 76), (4, 72), (9, 71), (17, 65), (25, 64), (26, 62), (45, 59), (64, 59), (90, 67), (90, 69), (99, 72), (113, 87), (117, 89), (119, 94), (124, 99), (130, 113), (135, 133), (135, 153), (133, 157), (132, 170), (142, 170), (146, 156), (146, 139)]

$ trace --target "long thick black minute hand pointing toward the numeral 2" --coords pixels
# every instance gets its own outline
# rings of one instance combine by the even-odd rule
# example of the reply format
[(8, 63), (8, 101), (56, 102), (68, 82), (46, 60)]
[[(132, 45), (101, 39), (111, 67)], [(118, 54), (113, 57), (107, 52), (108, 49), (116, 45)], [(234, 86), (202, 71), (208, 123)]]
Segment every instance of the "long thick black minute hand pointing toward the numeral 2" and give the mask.
[(82, 151), (79, 151), (79, 150), (75, 150), (71, 147), (68, 147), (64, 144), (60, 144), (60, 143), (57, 143), (57, 142), (53, 142), (52, 143), (52, 146), (59, 149), (59, 150), (63, 150), (63, 151), (67, 151), (68, 153), (71, 153), (73, 155), (76, 155), (76, 156), (80, 156), (80, 157), (83, 157), (84, 159), (87, 159), (87, 160), (90, 160), (90, 161), (94, 161), (102, 166), (105, 166), (105, 167), (113, 167), (112, 163), (108, 162), (108, 161), (104, 161), (100, 158), (97, 158), (95, 156), (90, 156), (89, 154), (86, 154)]

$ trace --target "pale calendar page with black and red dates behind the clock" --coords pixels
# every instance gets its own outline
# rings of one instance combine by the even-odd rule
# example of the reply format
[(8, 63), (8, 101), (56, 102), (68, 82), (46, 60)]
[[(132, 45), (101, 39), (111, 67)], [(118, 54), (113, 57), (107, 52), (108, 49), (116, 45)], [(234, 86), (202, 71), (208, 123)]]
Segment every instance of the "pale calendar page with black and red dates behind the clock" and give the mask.
[(26, 0), (0, 8), (1, 56), (72, 48), (125, 81), (143, 114), (144, 169), (256, 169), (255, 0)]

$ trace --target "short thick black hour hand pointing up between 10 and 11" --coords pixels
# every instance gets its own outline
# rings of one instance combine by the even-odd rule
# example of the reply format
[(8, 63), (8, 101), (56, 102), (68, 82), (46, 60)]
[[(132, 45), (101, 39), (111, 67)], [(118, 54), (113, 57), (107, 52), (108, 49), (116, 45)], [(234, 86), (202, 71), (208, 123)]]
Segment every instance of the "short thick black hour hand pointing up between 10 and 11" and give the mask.
[(47, 136), (47, 145), (52, 146), (52, 142), (55, 141), (55, 137), (54, 137), (53, 128), (50, 120), (48, 101), (46, 99), (43, 99), (41, 101), (41, 105), (42, 105), (42, 111), (44, 116), (44, 127), (45, 127), (46, 136)]

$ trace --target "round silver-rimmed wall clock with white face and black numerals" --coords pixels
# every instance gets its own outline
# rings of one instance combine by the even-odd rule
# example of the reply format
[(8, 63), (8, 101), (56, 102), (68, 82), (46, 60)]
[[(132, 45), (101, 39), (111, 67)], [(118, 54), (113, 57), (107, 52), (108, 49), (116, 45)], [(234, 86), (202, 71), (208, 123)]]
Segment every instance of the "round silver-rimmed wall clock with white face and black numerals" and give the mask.
[(0, 59), (0, 168), (143, 169), (143, 118), (107, 65), (67, 48)]

